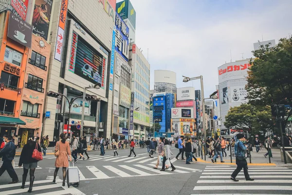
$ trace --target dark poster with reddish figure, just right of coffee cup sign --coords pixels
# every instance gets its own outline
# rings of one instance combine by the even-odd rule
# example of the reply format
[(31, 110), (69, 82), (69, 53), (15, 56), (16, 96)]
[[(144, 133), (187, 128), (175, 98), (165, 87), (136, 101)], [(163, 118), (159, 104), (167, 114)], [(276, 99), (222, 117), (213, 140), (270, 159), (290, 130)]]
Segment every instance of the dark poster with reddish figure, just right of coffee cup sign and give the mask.
[(46, 40), (48, 39), (52, 3), (53, 0), (36, 0), (34, 7), (32, 21), (32, 25), (34, 26), (33, 33)]

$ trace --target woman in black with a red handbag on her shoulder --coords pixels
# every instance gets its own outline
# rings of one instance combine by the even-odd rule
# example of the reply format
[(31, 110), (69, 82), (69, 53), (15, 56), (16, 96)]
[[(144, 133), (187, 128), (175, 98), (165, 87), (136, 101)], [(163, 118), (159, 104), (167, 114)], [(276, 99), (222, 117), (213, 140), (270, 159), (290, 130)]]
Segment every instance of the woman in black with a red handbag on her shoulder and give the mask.
[[(28, 136), (27, 144), (22, 148), (18, 166), (21, 167), (23, 164), (23, 175), (22, 175), (22, 185), (20, 188), (24, 189), (25, 180), (29, 170), (29, 189), (27, 192), (32, 192), (33, 184), (35, 180), (35, 171), (37, 168), (37, 162), (42, 159), (42, 157), (35, 157), (41, 155), (41, 148), (38, 143), (34, 141), (34, 135)], [(37, 151), (35, 151), (37, 150)], [(36, 154), (38, 153), (38, 154)], [(34, 156), (34, 157), (33, 157)]]

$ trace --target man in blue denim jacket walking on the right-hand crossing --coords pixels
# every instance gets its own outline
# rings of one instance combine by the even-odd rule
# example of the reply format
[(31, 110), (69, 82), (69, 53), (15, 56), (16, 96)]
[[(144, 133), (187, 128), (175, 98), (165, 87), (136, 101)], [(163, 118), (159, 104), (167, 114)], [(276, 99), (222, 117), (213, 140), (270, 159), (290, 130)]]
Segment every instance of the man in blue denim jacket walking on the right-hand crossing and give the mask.
[(245, 179), (247, 181), (255, 180), (255, 179), (252, 179), (248, 174), (247, 162), (246, 162), (245, 155), (244, 155), (244, 151), (247, 150), (247, 147), (242, 142), (244, 140), (245, 140), (245, 137), (243, 134), (237, 134), (237, 140), (236, 140), (236, 143), (234, 146), (237, 168), (236, 168), (236, 170), (234, 170), (234, 172), (232, 173), (231, 178), (230, 178), (233, 181), (239, 181), (236, 179), (236, 176), (242, 170), (242, 168), (243, 168), (243, 173), (244, 173)]

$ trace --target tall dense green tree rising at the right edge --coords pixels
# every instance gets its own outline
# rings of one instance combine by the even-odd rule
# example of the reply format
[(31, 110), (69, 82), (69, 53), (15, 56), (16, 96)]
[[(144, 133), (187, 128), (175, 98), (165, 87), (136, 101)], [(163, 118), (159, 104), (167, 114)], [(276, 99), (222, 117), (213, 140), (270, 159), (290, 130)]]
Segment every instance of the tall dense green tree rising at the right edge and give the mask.
[(246, 85), (249, 103), (262, 106), (289, 105), (287, 115), (290, 117), (292, 114), (292, 36), (280, 39), (274, 47), (262, 45), (252, 53), (255, 59), (251, 60), (252, 66), (248, 72)]

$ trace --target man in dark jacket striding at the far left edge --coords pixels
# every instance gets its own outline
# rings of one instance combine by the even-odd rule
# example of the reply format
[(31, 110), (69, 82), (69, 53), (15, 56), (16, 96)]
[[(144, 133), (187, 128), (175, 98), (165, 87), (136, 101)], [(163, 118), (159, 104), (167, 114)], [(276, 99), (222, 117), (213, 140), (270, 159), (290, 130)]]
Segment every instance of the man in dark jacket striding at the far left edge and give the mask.
[(7, 171), (9, 176), (12, 178), (12, 182), (9, 182), (9, 184), (18, 182), (18, 176), (16, 175), (12, 166), (12, 160), (14, 159), (16, 148), (11, 139), (11, 135), (7, 135), (5, 137), (4, 141), (6, 142), (6, 144), (4, 148), (0, 151), (0, 156), (2, 156), (3, 161), (3, 164), (0, 167), (0, 176), (2, 176), (5, 171)]

